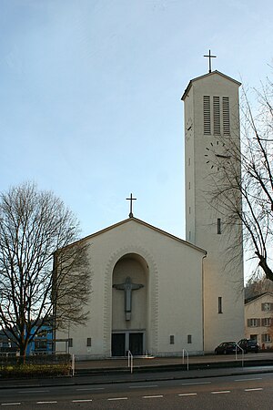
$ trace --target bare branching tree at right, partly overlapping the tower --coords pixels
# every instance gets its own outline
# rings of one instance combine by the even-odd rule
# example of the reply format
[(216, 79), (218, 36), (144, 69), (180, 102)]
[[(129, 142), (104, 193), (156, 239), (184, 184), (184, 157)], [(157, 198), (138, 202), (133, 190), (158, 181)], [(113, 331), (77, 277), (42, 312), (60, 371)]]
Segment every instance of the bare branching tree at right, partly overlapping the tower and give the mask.
[(240, 145), (238, 136), (223, 138), (226, 161), (223, 166), (222, 158), (216, 157), (221, 179), (213, 186), (213, 200), (223, 210), (227, 229), (235, 224), (243, 228), (233, 251), (244, 245), (273, 281), (273, 85), (268, 80), (254, 93), (255, 109), (243, 90)]

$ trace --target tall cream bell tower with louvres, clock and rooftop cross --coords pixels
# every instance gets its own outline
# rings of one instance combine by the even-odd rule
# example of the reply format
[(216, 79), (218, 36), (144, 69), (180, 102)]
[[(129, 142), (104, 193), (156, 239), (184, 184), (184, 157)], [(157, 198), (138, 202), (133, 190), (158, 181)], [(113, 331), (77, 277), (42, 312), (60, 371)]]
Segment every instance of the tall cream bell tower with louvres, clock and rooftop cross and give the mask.
[[(209, 60), (210, 61), (210, 60)], [(183, 96), (185, 118), (186, 239), (207, 251), (204, 261), (204, 345), (244, 335), (243, 249), (230, 249), (242, 235), (228, 224), (224, 207), (213, 200), (221, 169), (233, 159), (230, 141), (239, 146), (240, 83), (218, 71), (192, 79)], [(239, 164), (237, 164), (239, 166)], [(238, 198), (241, 203), (241, 198)], [(228, 233), (227, 233), (228, 231)], [(229, 250), (229, 251), (227, 251)]]

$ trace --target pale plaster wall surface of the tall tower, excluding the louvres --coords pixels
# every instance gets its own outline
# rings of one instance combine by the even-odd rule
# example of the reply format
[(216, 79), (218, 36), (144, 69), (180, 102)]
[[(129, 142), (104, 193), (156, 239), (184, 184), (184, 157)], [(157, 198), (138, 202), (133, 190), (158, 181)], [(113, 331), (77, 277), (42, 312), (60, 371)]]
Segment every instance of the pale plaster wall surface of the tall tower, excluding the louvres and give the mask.
[[(186, 142), (186, 158), (194, 156), (191, 168), (186, 164), (186, 218), (187, 231), (195, 226), (195, 243), (206, 249), (204, 263), (205, 350), (213, 351), (218, 343), (238, 340), (244, 333), (243, 251), (240, 247), (238, 260), (230, 263), (227, 249), (234, 243), (238, 231), (217, 234), (217, 218), (224, 215), (215, 210), (209, 200), (209, 191), (215, 189), (217, 172), (207, 166), (206, 148), (217, 136), (205, 136), (203, 129), (203, 96), (229, 97), (231, 136), (238, 141), (238, 84), (217, 73), (194, 80), (185, 98), (185, 112), (193, 110), (194, 135)], [(211, 107), (212, 112), (212, 107)], [(187, 115), (187, 114), (186, 114)], [(189, 114), (191, 115), (191, 114)], [(185, 118), (187, 122), (187, 117)], [(186, 132), (186, 130), (185, 130)], [(194, 149), (194, 154), (192, 150)], [(213, 179), (212, 179), (212, 178)], [(188, 182), (193, 181), (191, 190)], [(193, 200), (194, 196), (194, 200)], [(189, 205), (194, 207), (189, 213)], [(195, 225), (194, 225), (195, 223)], [(192, 229), (192, 228), (191, 228)], [(187, 232), (188, 238), (188, 232)], [(223, 313), (218, 313), (218, 297), (222, 297)]]

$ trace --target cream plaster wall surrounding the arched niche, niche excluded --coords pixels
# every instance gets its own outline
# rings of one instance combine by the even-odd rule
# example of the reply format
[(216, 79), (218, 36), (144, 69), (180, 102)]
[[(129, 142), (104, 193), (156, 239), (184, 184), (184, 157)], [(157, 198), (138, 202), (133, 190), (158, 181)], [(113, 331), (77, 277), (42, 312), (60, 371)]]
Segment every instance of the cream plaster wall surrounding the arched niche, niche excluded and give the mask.
[[(86, 241), (91, 244), (89, 254), (94, 274), (90, 319), (85, 327), (70, 328), (73, 338), (70, 353), (82, 357), (110, 356), (112, 273), (116, 261), (129, 253), (138, 254), (147, 261), (148, 352), (159, 355), (181, 353), (186, 346), (187, 334), (192, 334), (193, 340), (186, 346), (187, 350), (203, 351), (203, 251), (135, 219), (116, 224)], [(170, 334), (175, 335), (174, 345), (169, 344)], [(86, 346), (87, 337), (92, 338), (90, 348)]]

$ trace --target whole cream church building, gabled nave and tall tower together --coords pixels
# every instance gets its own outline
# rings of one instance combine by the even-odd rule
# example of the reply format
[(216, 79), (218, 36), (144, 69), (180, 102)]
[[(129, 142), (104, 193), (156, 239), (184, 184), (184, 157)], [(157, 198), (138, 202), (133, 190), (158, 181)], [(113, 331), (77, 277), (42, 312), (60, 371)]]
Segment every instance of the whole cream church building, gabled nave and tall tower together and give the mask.
[[(232, 235), (223, 210), (207, 199), (220, 172), (213, 157), (227, 160), (219, 137), (239, 138), (239, 86), (213, 71), (192, 79), (183, 94), (187, 241), (132, 211), (82, 240), (91, 245), (89, 319), (56, 333), (69, 339), (71, 354), (204, 354), (244, 336), (243, 250), (237, 250), (239, 263), (228, 262)], [(56, 343), (56, 351), (64, 350), (65, 342)]]

